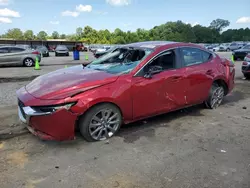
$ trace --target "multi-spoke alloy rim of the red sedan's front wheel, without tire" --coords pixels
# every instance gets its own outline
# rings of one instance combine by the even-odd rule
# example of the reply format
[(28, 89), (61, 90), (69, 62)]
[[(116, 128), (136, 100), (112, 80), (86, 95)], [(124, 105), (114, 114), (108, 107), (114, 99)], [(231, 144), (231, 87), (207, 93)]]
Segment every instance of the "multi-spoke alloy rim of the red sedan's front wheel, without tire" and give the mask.
[(117, 131), (120, 121), (118, 113), (111, 109), (102, 109), (92, 117), (89, 133), (94, 140), (106, 140)]

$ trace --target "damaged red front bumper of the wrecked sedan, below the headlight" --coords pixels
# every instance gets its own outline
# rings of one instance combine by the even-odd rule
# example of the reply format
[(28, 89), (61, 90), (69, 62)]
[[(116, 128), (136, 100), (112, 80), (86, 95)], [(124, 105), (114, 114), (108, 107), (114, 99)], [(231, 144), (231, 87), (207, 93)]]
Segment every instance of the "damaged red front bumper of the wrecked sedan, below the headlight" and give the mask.
[[(34, 99), (29, 93), (24, 92), (23, 88), (21, 90), (22, 95), (25, 95), (25, 97), (18, 97), (31, 100), (32, 103), (37, 102), (39, 105), (41, 104), (39, 99)], [(29, 102), (25, 102), (29, 104)], [(75, 138), (77, 114), (66, 109), (60, 109), (55, 112), (37, 112), (32, 107), (25, 106), (25, 102), (19, 100), (18, 115), (32, 134), (42, 140), (63, 141), (73, 140)]]

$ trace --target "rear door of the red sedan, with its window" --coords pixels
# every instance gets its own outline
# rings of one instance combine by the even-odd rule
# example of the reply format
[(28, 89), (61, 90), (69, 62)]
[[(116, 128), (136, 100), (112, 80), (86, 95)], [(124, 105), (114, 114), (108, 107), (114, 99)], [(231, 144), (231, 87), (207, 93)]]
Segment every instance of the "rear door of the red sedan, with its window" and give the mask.
[(189, 105), (207, 99), (214, 77), (213, 54), (199, 48), (180, 48), (187, 90), (185, 93)]

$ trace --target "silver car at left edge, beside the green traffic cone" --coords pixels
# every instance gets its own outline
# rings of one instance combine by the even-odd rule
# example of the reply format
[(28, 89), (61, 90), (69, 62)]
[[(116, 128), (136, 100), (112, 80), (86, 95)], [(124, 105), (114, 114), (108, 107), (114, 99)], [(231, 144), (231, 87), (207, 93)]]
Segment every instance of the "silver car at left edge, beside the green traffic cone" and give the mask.
[(41, 61), (40, 52), (30, 48), (25, 49), (17, 46), (1, 46), (0, 47), (0, 65), (22, 65), (31, 67), (35, 64), (35, 60)]

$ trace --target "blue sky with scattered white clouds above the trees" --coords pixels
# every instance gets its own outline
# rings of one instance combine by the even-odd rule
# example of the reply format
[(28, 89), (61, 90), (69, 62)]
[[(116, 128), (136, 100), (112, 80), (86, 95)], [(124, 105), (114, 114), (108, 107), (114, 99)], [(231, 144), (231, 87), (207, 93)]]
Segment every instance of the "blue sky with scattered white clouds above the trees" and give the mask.
[(250, 0), (0, 0), (0, 34), (11, 28), (73, 34), (77, 27), (135, 31), (168, 21), (250, 28)]

